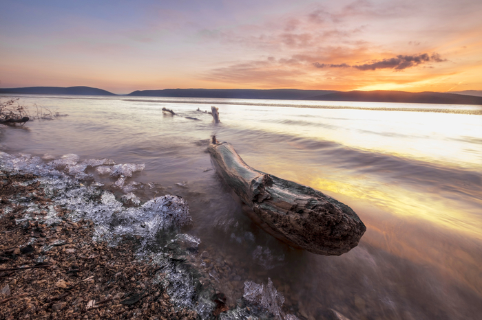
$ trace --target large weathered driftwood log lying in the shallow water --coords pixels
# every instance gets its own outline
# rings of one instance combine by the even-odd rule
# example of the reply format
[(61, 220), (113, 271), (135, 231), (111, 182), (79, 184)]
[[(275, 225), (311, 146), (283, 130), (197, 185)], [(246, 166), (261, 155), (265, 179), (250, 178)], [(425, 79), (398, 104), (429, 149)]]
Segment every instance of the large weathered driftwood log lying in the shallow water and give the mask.
[(266, 232), (322, 255), (341, 255), (357, 246), (366, 227), (353, 209), (311, 187), (251, 168), (227, 142), (211, 142), (218, 173)]

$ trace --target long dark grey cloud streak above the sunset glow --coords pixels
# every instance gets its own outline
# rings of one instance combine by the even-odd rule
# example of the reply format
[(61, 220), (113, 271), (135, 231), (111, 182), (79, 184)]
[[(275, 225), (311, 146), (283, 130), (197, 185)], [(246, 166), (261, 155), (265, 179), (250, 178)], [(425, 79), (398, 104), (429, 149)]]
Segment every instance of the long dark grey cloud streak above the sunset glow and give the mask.
[(383, 60), (373, 60), (369, 63), (365, 63), (364, 65), (347, 65), (346, 63), (342, 63), (340, 65), (335, 64), (326, 64), (326, 63), (313, 63), (313, 66), (317, 68), (355, 68), (362, 71), (366, 70), (377, 70), (377, 69), (395, 69), (395, 70), (404, 70), (410, 67), (415, 67), (417, 65), (421, 65), (427, 62), (443, 62), (446, 59), (440, 58), (440, 55), (437, 53), (432, 54), (418, 54), (415, 56), (404, 56), (399, 54), (395, 58), (383, 59)]

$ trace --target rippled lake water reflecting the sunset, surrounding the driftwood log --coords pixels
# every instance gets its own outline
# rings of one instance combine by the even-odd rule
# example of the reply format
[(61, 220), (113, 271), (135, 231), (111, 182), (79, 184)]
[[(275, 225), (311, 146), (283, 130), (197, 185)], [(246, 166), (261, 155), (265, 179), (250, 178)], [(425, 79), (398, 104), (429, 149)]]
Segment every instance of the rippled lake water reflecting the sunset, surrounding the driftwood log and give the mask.
[[(245, 280), (270, 277), (300, 319), (325, 319), (329, 309), (352, 320), (480, 319), (482, 106), (20, 98), (67, 116), (1, 128), (3, 151), (145, 163), (131, 180), (188, 201), (194, 223), (186, 232), (208, 256), (200, 268), (230, 304)], [(196, 111), (211, 105), (220, 124)], [(211, 135), (233, 144), (253, 168), (352, 207), (367, 227), (358, 247), (315, 255), (266, 235), (213, 170)]]

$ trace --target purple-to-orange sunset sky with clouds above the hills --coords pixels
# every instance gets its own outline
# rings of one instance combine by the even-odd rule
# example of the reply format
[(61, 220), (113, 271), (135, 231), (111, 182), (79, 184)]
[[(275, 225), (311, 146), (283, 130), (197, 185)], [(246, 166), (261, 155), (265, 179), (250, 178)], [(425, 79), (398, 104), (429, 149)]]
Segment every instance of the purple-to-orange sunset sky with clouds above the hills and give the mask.
[(0, 87), (482, 90), (482, 1), (0, 0)]

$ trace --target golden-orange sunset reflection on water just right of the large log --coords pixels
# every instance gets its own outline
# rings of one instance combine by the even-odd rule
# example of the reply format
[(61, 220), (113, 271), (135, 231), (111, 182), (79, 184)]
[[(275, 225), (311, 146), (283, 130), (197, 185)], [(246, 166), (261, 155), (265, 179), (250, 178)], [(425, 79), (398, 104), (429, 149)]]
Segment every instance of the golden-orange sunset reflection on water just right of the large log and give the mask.
[(355, 209), (367, 227), (362, 242), (415, 264), (437, 266), (482, 295), (481, 221), (468, 214), (468, 208), (457, 207), (459, 202), (395, 185), (373, 189), (363, 183), (320, 178), (306, 183), (335, 198), (343, 194), (344, 203)]

